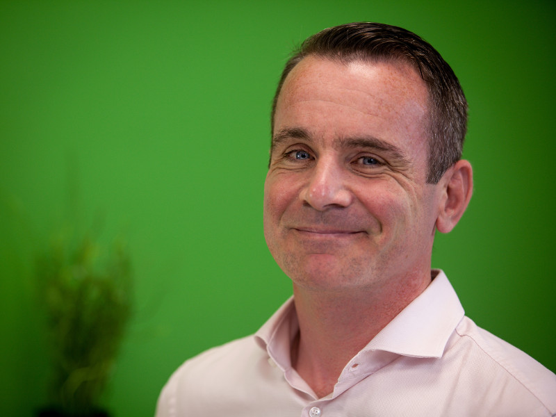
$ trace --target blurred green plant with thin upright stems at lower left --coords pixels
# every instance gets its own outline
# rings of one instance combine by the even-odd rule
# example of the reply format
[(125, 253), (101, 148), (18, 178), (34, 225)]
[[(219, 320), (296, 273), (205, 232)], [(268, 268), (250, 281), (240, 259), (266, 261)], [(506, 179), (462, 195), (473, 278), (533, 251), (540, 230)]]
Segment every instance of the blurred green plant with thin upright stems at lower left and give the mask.
[[(131, 265), (124, 245), (106, 253), (90, 236), (60, 236), (36, 262), (54, 365), (58, 415), (95, 416), (131, 315)], [(53, 411), (42, 415), (54, 415)]]

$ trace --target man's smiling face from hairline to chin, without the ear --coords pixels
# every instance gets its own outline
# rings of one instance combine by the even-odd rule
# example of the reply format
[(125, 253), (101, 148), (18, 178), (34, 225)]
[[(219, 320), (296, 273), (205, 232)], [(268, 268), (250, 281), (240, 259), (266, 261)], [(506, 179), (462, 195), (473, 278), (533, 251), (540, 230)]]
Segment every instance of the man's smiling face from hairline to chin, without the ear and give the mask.
[(439, 186), (427, 184), (427, 88), (391, 63), (309, 56), (275, 113), (264, 231), (297, 286), (430, 277)]

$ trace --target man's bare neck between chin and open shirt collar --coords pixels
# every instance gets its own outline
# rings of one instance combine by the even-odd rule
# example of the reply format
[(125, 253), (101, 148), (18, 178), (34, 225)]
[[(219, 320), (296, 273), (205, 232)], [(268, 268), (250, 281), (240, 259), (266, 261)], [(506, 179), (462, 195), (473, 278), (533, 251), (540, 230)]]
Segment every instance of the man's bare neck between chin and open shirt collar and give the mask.
[(292, 365), (319, 398), (334, 390), (345, 365), (430, 284), (430, 274), (385, 288), (315, 291), (294, 284), (300, 334)]

